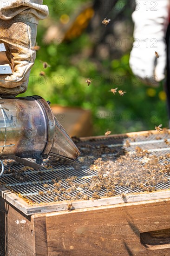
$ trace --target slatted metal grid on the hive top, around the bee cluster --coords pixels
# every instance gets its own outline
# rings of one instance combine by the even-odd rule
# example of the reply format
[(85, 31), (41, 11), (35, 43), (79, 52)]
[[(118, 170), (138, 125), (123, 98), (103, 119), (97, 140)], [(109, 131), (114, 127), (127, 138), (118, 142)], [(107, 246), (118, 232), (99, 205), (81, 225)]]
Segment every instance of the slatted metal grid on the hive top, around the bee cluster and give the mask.
[[(102, 161), (114, 161), (121, 157), (124, 151), (134, 153), (133, 159), (141, 161), (143, 158), (136, 155), (136, 147), (147, 150), (152, 155), (159, 158), (159, 163), (164, 166), (170, 164), (170, 148), (164, 143), (164, 140), (170, 141), (169, 132), (161, 134), (147, 133), (146, 135), (126, 135), (108, 136), (103, 138), (94, 137), (89, 140), (77, 141), (80, 151), (84, 152), (78, 162), (72, 163), (65, 160), (55, 160), (50, 158), (46, 161), (46, 166), (38, 171), (32, 168), (13, 162), (4, 161), (5, 171), (0, 178), (0, 184), (14, 193), (24, 198), (31, 204), (48, 203), (54, 201), (78, 200), (91, 198), (94, 191), (86, 187), (85, 184), (92, 182), (92, 178), (98, 176), (98, 170), (91, 168), (92, 164), (99, 157)], [(98, 150), (102, 147), (104, 150)], [(112, 152), (105, 151), (110, 148)], [(160, 157), (162, 156), (162, 158)], [(82, 161), (85, 158), (85, 161)], [(157, 183), (156, 190), (170, 188), (169, 173), (163, 174), (167, 177), (166, 182)], [(60, 185), (59, 189), (55, 185)], [(146, 185), (147, 187), (147, 185)], [(115, 195), (122, 193), (139, 193), (142, 190), (139, 187), (131, 188), (129, 186), (115, 186)], [(98, 196), (103, 197), (106, 191), (101, 188)]]

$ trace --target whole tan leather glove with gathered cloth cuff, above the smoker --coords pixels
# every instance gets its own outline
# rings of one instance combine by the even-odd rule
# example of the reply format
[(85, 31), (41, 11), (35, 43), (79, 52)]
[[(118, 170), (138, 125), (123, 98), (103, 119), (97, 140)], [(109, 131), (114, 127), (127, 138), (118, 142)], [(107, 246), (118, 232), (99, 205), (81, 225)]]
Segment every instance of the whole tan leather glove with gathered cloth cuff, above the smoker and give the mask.
[(13, 75), (0, 75), (0, 96), (26, 91), (36, 58), (37, 24), (47, 16), (43, 0), (0, 0), (0, 43), (13, 70)]

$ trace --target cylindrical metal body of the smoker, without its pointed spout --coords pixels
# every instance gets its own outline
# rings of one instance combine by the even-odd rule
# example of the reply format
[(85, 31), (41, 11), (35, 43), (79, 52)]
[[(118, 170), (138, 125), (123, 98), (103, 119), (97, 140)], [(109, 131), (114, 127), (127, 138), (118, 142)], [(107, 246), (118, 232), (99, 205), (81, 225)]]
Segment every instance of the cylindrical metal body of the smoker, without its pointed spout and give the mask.
[(1, 101), (5, 108), (0, 115), (0, 155), (46, 158), (53, 143), (53, 136), (48, 134), (53, 135), (55, 131), (52, 111), (46, 101), (33, 97)]

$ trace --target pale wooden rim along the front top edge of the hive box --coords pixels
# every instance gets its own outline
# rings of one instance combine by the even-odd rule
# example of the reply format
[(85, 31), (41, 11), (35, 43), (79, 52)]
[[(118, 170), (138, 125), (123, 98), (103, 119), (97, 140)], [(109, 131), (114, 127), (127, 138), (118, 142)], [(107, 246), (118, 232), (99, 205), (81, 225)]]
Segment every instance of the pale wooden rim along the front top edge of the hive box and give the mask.
[[(35, 204), (29, 205), (23, 199), (13, 194), (11, 191), (7, 190), (0, 186), (0, 196), (7, 200), (7, 202), (11, 203), (17, 209), (22, 211), (27, 216), (35, 214), (35, 213), (48, 213), (54, 211), (64, 211), (67, 209), (68, 201), (62, 202), (49, 202), (43, 204)], [(127, 202), (142, 202), (142, 201), (150, 201), (154, 199), (167, 199), (170, 198), (170, 189), (163, 189), (154, 192), (138, 192), (127, 194), (125, 198), (121, 196), (113, 196), (113, 197), (104, 197), (98, 200), (77, 200), (73, 201), (74, 209), (83, 209), (89, 207), (103, 206), (103, 205), (113, 205), (113, 204), (121, 204)]]

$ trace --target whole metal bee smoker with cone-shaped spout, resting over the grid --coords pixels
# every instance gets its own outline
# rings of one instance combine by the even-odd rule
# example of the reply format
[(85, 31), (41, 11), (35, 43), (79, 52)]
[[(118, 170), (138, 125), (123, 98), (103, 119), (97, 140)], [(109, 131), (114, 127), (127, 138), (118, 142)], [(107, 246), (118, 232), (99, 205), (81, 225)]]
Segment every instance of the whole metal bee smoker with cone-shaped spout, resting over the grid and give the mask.
[(40, 96), (0, 99), (0, 175), (3, 159), (39, 169), (49, 155), (69, 160), (80, 155), (49, 102)]

